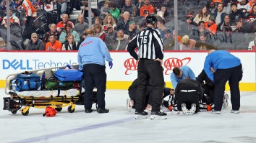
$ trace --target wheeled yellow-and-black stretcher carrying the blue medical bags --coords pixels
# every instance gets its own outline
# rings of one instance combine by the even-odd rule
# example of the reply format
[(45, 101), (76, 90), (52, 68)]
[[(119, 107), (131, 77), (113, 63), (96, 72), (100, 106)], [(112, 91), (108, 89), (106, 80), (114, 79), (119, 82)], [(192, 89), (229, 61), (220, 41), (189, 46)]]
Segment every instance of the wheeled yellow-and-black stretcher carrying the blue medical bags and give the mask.
[[(79, 65), (72, 65), (72, 68), (78, 69)], [(40, 70), (30, 70), (28, 72), (40, 75), (40, 77), (45, 74), (45, 77), (51, 77), (54, 75), (54, 71), (58, 69), (67, 68), (66, 66), (56, 67), (56, 68), (45, 68)], [(51, 106), (56, 109), (56, 111), (61, 111), (63, 107), (68, 106), (67, 111), (73, 113), (75, 106), (83, 105), (84, 89), (82, 88), (82, 83), (79, 83), (78, 88), (69, 90), (53, 90), (53, 91), (13, 91), (10, 88), (10, 80), (17, 77), (14, 73), (7, 75), (6, 78), (6, 88), (5, 93), (9, 97), (4, 97), (4, 110), (11, 111), (12, 114), (16, 114), (20, 111), (22, 115), (27, 116), (31, 107), (37, 109), (45, 109), (47, 106)], [(97, 103), (96, 91), (93, 91), (93, 103)], [(97, 108), (97, 105), (96, 105)]]

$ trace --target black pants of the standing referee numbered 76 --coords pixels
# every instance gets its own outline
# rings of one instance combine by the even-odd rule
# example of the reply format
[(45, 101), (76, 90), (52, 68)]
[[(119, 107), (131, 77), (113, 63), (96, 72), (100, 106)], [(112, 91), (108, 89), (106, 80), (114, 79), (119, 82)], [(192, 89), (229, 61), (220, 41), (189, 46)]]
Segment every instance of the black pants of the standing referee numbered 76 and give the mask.
[(145, 92), (148, 87), (149, 80), (152, 80), (153, 98), (152, 98), (152, 111), (160, 111), (163, 95), (163, 70), (158, 61), (140, 59), (138, 63), (138, 88), (136, 95), (136, 111), (143, 111), (145, 101)]

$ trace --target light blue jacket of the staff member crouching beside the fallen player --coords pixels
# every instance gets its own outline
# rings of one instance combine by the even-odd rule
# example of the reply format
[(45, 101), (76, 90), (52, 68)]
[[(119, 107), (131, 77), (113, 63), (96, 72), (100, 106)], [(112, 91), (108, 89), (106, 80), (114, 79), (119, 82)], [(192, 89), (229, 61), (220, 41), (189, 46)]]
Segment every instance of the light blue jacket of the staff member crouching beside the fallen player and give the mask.
[(174, 73), (171, 73), (171, 84), (174, 89), (176, 88), (180, 80), (184, 80), (185, 78), (195, 80), (195, 73), (187, 65), (183, 65), (182, 67), (180, 67), (180, 69), (182, 70), (182, 78), (179, 78), (174, 75)]

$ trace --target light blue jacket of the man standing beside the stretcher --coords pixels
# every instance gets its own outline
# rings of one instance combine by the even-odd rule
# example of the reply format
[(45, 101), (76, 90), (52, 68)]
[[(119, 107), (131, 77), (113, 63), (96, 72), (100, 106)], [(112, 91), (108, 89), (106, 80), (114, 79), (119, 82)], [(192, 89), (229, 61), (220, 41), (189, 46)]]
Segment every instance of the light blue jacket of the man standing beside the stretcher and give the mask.
[[(95, 48), (97, 50), (95, 50)], [(80, 65), (79, 70), (82, 70), (82, 65), (85, 64), (105, 65), (104, 58), (112, 68), (112, 58), (105, 42), (100, 38), (88, 36), (82, 42), (78, 50), (77, 60)]]

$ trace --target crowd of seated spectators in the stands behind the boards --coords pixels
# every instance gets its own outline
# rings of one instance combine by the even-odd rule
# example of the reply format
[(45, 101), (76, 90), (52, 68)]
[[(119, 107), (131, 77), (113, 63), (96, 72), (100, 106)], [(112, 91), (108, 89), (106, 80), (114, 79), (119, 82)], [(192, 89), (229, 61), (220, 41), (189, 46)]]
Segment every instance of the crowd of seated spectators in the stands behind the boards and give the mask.
[[(77, 50), (84, 31), (93, 28), (108, 50), (126, 50), (155, 14), (164, 50), (256, 50), (255, 0), (178, 1), (179, 29), (174, 29), (173, 0), (106, 0), (90, 14), (88, 1), (8, 0), (12, 50)], [(72, 11), (81, 11), (69, 19)], [(0, 5), (0, 48), (7, 43), (7, 0)], [(175, 46), (178, 32), (178, 49)]]

